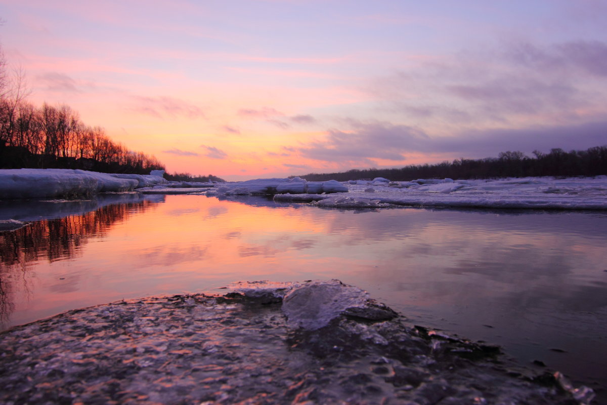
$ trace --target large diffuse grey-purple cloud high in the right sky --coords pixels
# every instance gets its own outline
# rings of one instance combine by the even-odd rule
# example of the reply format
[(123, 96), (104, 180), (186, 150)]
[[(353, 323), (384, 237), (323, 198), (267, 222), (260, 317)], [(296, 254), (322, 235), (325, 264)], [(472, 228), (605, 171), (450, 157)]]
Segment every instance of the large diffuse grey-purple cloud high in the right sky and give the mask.
[[(464, 50), (422, 61), (367, 87), (383, 111), (422, 126), (443, 121), (471, 126), (521, 121), (569, 123), (607, 102), (607, 43), (569, 41), (540, 46), (507, 41), (495, 50)], [(595, 118), (592, 118), (595, 119)]]

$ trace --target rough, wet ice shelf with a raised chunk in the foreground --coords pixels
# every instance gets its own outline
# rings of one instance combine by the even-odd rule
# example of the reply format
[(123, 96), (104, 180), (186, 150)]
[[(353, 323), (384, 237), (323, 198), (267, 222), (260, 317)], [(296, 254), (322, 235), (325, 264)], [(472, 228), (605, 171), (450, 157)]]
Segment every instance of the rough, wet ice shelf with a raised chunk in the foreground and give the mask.
[(406, 325), (337, 280), (237, 290), (114, 302), (1, 333), (0, 401), (566, 405), (594, 395), (498, 347)]

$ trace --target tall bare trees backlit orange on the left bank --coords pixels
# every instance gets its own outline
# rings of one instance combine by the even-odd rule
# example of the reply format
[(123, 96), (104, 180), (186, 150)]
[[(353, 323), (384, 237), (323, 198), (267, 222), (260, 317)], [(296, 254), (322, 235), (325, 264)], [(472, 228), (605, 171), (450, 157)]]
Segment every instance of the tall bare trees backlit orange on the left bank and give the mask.
[(110, 140), (66, 105), (0, 97), (0, 168), (70, 168), (148, 174), (164, 169), (154, 156)]

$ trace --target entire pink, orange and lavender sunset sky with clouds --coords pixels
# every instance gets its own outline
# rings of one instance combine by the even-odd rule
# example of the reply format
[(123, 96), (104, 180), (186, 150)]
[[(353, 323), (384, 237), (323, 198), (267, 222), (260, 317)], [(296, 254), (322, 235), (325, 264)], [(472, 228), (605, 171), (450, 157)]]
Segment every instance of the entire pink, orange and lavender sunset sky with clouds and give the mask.
[(0, 0), (36, 105), (226, 180), (607, 145), (607, 0)]

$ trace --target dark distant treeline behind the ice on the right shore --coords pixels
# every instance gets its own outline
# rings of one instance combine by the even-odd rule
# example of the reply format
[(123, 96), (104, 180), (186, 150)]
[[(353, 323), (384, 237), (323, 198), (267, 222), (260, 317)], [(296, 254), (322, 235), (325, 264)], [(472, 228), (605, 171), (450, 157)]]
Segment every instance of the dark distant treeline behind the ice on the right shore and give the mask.
[(526, 156), (520, 151), (500, 152), (498, 157), (456, 159), (436, 165), (409, 165), (399, 169), (352, 169), (347, 172), (302, 175), (308, 181), (374, 179), (385, 177), (395, 181), (415, 179), (495, 179), (527, 176), (594, 176), (607, 175), (607, 145), (585, 151), (551, 149), (548, 153), (534, 151)]

